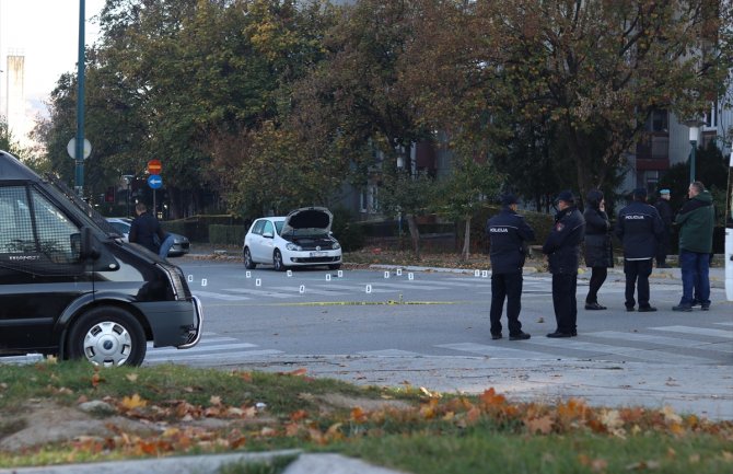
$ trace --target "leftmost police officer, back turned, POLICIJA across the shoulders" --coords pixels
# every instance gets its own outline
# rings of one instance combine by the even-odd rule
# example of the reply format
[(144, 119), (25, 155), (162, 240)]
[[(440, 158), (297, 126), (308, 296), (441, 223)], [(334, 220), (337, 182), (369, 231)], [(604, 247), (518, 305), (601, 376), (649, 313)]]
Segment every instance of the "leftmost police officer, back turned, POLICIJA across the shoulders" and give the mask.
[(517, 200), (508, 194), (501, 198), (501, 211), (486, 223), (489, 235), (491, 258), (491, 338), (501, 339), (501, 312), (507, 299), (507, 321), (509, 340), (528, 339), (522, 332), (520, 311), (522, 310), (522, 267), (526, 256), (526, 242), (534, 240), (535, 233), (516, 213)]

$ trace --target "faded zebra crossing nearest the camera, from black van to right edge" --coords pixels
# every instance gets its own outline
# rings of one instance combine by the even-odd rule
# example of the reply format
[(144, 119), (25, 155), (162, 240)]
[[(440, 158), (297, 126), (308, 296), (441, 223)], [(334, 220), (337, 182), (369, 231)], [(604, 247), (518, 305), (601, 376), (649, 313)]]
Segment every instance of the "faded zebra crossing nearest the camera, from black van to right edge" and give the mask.
[[(672, 365), (733, 365), (733, 331), (729, 322), (712, 324), (714, 327), (670, 325), (640, 332), (601, 331), (583, 333), (579, 337), (549, 339), (533, 337), (530, 340), (508, 339), (486, 343), (464, 342), (438, 344), (405, 350), (387, 348), (354, 351), (366, 357), (488, 357), (523, 360), (603, 360), (653, 362)], [(234, 337), (203, 333), (200, 343), (186, 350), (148, 347), (146, 365), (184, 363), (218, 366), (243, 363), (259, 357), (284, 356), (283, 350), (269, 349)], [(319, 356), (325, 356), (319, 355)], [(342, 355), (342, 354), (339, 354)]]

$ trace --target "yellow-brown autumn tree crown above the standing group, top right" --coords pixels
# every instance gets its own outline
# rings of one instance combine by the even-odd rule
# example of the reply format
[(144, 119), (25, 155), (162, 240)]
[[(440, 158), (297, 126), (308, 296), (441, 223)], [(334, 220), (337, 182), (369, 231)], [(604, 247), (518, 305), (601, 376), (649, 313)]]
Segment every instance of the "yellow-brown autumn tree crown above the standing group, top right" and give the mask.
[(725, 90), (728, 1), (486, 2), (482, 15), (502, 20), (492, 33), (504, 41), (497, 54), (513, 109), (526, 119), (549, 112), (582, 195), (623, 166), (653, 109), (684, 117)]

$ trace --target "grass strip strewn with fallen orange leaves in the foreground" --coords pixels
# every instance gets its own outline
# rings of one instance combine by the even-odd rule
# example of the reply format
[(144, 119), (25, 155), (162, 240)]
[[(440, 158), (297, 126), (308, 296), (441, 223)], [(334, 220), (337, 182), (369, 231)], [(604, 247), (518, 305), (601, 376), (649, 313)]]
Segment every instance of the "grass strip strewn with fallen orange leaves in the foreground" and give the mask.
[[(114, 415), (148, 428), (117, 426), (107, 437), (0, 450), (0, 467), (299, 448), (426, 474), (733, 472), (732, 421), (572, 400), (515, 404), (492, 390), (463, 396), (364, 389), (306, 375), (172, 365), (0, 366), (0, 443), (26, 426), (30, 405), (71, 411), (102, 401), (109, 407), (94, 414), (102, 424)], [(221, 472), (275, 474), (289, 462)]]

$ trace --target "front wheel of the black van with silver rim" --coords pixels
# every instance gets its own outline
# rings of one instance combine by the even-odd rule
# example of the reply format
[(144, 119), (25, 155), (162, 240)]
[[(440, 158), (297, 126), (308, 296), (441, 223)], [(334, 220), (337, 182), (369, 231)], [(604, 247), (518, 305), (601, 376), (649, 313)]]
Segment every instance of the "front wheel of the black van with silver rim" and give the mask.
[(95, 366), (139, 366), (146, 358), (146, 333), (129, 312), (95, 308), (71, 326), (68, 357), (85, 358)]

